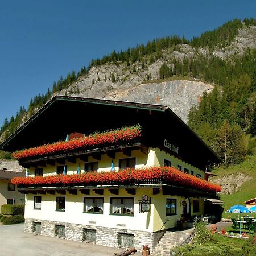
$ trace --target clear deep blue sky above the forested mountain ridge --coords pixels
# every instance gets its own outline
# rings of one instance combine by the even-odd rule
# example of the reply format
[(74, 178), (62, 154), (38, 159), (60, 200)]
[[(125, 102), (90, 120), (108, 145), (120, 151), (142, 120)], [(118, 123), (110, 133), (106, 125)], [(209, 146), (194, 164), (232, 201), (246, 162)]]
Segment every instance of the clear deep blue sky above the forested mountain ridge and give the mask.
[(114, 49), (162, 36), (191, 39), (234, 18), (256, 18), (255, 0), (0, 3), (0, 126), (60, 76)]

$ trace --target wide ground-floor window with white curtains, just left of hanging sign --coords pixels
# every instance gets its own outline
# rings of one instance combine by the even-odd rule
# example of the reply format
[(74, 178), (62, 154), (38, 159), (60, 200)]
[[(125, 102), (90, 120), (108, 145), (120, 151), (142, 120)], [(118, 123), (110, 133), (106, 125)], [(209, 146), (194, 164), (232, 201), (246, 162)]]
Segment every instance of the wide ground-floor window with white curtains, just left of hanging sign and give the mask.
[(133, 216), (134, 198), (110, 198), (110, 213)]

